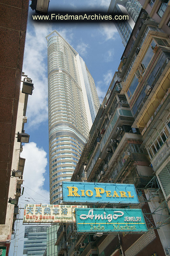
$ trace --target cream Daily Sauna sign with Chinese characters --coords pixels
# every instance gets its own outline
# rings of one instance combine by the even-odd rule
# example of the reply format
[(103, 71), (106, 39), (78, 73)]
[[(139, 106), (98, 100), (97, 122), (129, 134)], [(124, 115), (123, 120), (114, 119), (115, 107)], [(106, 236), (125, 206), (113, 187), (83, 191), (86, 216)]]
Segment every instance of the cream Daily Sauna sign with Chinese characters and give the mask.
[(77, 205), (25, 204), (23, 223), (72, 222), (72, 212)]

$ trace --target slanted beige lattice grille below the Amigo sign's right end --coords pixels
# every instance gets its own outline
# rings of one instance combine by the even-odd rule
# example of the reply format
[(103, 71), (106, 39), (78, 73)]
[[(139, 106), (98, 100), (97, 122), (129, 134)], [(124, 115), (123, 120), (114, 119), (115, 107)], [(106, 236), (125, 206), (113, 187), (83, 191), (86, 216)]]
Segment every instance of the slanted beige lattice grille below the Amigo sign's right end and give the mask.
[(136, 256), (148, 244), (156, 238), (155, 231), (150, 229), (147, 233), (142, 235), (134, 244), (131, 245), (126, 251), (125, 256)]

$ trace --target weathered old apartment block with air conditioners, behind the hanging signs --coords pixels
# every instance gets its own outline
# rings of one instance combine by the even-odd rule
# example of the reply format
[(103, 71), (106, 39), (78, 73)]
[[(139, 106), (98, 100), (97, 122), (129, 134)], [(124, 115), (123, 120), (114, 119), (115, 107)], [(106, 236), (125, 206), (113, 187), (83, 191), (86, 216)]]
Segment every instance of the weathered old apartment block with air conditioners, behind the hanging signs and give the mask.
[[(71, 178), (135, 184), (140, 203), (133, 208), (142, 209), (148, 232), (81, 235), (73, 225), (60, 225), (59, 256), (170, 255), (170, 12), (168, 3), (154, 3), (141, 3), (144, 9)], [(148, 4), (154, 6), (152, 17)], [(156, 15), (159, 20), (153, 20)]]

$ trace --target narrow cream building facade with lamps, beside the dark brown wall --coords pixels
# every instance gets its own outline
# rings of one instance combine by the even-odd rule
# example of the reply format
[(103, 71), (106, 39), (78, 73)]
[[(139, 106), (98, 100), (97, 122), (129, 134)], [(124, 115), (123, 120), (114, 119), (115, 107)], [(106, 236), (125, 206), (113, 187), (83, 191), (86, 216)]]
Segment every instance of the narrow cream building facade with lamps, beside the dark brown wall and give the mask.
[[(12, 163), (11, 163), (11, 177), (9, 184), (9, 194), (8, 194), (8, 204), (6, 210), (6, 219), (5, 224), (0, 225), (0, 246), (6, 248), (6, 255), (8, 255), (11, 238), (15, 236), (16, 229), (16, 220), (19, 216), (19, 207), (18, 200), (19, 197), (23, 194), (24, 188), (23, 184), (23, 172), (25, 165), (25, 158), (20, 157), (20, 153), (22, 152), (22, 142), (20, 141), (21, 134), (25, 134), (24, 125), (27, 122), (26, 117), (26, 108), (28, 101), (28, 94), (25, 94), (22, 90), (23, 83), (30, 80), (23, 72), (21, 77), (21, 88), (19, 93), (18, 100), (18, 112), (17, 112), (17, 120), (16, 120), (16, 130), (15, 130), (15, 140), (14, 140), (14, 148), (12, 151)], [(19, 133), (19, 134), (18, 134)], [(18, 134), (18, 135), (17, 135)], [(28, 135), (28, 134), (27, 134)], [(29, 135), (28, 135), (29, 136)]]

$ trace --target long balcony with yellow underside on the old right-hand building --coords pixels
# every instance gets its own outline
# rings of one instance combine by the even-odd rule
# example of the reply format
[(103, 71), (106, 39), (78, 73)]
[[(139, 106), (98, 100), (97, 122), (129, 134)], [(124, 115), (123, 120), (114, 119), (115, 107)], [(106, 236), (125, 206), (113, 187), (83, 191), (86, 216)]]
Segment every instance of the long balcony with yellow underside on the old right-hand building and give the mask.
[[(140, 128), (141, 132), (144, 129), (145, 130), (147, 129), (148, 125), (152, 121), (152, 118), (154, 117), (154, 115), (156, 115), (160, 106), (163, 104), (163, 102), (165, 101), (166, 97), (170, 92), (169, 91), (170, 86), (168, 82), (170, 61), (169, 61), (169, 58), (166, 58), (166, 55), (164, 54), (164, 52), (161, 54), (161, 56), (165, 58), (163, 65), (161, 65), (161, 61), (159, 61), (160, 62), (159, 67), (157, 67), (157, 64), (156, 64), (156, 66), (152, 70), (144, 86), (145, 88), (146, 86), (150, 87), (151, 90), (148, 92), (143, 92), (141, 94), (143, 95), (142, 96), (143, 98), (140, 98), (141, 96), (138, 97), (138, 99), (135, 102), (136, 106), (139, 100), (141, 103), (138, 106), (137, 111), (135, 110), (135, 104), (133, 106), (133, 112), (135, 114), (134, 125), (137, 125), (137, 127)], [(160, 59), (163, 60), (163, 58), (161, 57), (159, 58), (159, 60)], [(155, 69), (156, 70), (158, 69), (157, 73)]]

